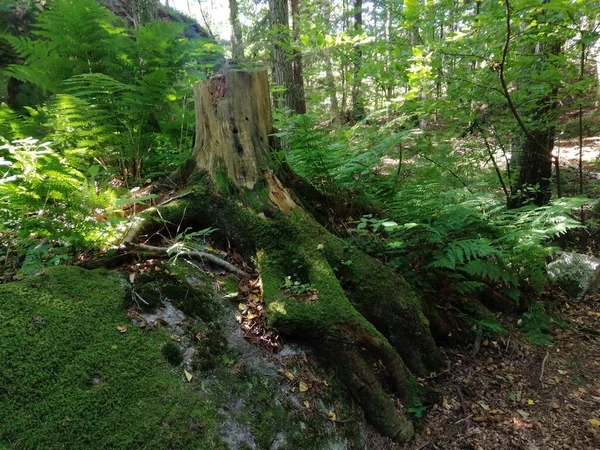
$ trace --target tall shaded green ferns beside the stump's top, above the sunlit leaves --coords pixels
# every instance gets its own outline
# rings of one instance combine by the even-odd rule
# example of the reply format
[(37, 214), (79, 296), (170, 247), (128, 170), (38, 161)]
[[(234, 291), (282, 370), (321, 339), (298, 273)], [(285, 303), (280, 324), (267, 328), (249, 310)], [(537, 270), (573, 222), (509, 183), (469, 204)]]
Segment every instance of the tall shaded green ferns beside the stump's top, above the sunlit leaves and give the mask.
[(206, 76), (220, 48), (182, 38), (179, 23), (125, 30), (94, 0), (52, 6), (39, 15), (33, 38), (2, 36), (24, 60), (8, 73), (59, 94), (43, 108), (34, 136), (44, 134), (105, 169), (118, 167), (124, 178), (177, 167), (191, 149), (191, 85)]

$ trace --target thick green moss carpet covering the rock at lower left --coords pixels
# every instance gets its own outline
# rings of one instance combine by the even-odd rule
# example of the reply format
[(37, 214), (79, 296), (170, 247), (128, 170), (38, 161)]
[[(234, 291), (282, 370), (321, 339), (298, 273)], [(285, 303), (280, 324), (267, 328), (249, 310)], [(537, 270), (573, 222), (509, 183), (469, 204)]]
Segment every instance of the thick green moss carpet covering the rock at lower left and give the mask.
[(0, 285), (0, 448), (224, 448), (161, 354), (167, 330), (131, 326), (125, 295), (76, 267)]

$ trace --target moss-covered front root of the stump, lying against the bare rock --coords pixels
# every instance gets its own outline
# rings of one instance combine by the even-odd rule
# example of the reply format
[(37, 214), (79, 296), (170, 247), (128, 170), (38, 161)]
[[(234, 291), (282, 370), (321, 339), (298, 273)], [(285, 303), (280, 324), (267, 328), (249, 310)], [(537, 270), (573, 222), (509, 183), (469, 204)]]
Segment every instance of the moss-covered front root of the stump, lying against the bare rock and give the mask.
[[(335, 274), (322, 255), (307, 260), (301, 248), (296, 252), (306, 261), (306, 282), (318, 292), (308, 299), (282, 289), (287, 273), (285, 253), (260, 251), (258, 263), (264, 298), (271, 320), (286, 333), (309, 339), (346, 383), (363, 407), (367, 418), (384, 435), (406, 441), (413, 435), (412, 424), (396, 409), (381, 380), (405, 404), (417, 398), (417, 383), (398, 353), (348, 301)], [(372, 369), (379, 367), (379, 373)]]

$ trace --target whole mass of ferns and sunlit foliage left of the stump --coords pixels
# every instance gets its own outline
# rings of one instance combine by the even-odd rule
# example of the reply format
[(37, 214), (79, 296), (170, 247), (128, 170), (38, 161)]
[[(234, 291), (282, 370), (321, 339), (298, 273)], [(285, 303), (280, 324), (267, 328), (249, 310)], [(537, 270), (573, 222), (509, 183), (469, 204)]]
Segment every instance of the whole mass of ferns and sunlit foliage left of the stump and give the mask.
[(0, 36), (23, 61), (6, 73), (46, 95), (19, 114), (0, 105), (0, 233), (25, 273), (111, 242), (123, 221), (110, 186), (189, 156), (191, 85), (220, 56), (182, 24), (127, 30), (94, 0), (41, 10), (28, 35)]

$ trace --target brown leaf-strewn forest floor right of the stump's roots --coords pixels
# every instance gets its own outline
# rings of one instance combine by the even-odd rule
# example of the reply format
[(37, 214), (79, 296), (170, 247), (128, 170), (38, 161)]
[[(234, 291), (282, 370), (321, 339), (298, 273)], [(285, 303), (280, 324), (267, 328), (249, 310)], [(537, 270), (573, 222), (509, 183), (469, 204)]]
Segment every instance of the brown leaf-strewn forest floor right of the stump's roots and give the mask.
[(518, 317), (506, 316), (509, 334), (484, 336), (476, 355), (447, 350), (448, 371), (426, 383), (443, 400), (398, 448), (600, 449), (600, 296), (563, 299), (560, 312), (552, 347), (528, 342)]

